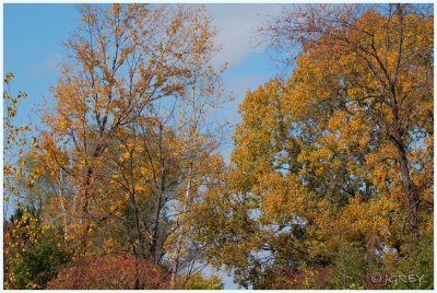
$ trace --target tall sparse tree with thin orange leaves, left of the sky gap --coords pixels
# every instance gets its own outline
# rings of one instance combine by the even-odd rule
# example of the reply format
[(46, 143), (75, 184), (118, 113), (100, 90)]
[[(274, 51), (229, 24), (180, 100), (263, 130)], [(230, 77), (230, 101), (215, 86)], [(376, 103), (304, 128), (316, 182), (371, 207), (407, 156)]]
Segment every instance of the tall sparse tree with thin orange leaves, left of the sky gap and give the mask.
[(203, 8), (80, 12), (38, 141), (40, 174), (59, 185), (49, 214), (78, 258), (125, 251), (170, 266), (175, 279), (198, 259), (187, 214), (221, 160), (206, 122), (223, 102), (215, 31)]

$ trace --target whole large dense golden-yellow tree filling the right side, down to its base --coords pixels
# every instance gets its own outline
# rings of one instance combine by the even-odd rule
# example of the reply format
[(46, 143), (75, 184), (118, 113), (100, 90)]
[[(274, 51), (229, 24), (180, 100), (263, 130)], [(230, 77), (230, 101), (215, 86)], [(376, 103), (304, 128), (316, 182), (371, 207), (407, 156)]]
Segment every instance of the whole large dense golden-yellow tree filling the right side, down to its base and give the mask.
[(432, 237), (433, 15), (422, 11), (302, 5), (262, 31), (300, 48), (293, 74), (247, 93), (231, 169), (199, 219), (211, 261), (241, 285), (277, 288), (271, 277), (285, 273), (302, 288), (347, 258), (366, 286)]

